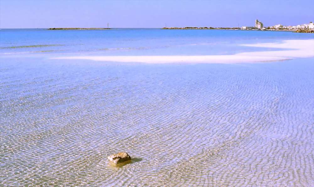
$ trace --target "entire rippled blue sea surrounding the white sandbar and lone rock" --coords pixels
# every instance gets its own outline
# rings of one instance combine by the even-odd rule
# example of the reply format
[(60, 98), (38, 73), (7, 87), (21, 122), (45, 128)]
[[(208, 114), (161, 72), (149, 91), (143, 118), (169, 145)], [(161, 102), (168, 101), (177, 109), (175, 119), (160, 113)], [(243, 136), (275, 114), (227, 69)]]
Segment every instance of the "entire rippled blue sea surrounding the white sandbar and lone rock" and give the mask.
[[(314, 186), (314, 58), (237, 63), (57, 60), (231, 55), (314, 34), (0, 30), (0, 186)], [(107, 156), (133, 158), (120, 168)]]

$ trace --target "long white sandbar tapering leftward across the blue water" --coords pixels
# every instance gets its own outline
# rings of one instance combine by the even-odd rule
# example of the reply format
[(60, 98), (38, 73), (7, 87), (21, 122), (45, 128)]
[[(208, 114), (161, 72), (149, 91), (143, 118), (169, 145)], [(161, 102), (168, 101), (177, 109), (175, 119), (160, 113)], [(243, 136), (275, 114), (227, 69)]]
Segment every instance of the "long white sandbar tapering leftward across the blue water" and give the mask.
[(314, 57), (314, 40), (284, 40), (282, 43), (242, 44), (241, 46), (281, 48), (289, 50), (246, 52), (235, 55), (198, 55), (198, 56), (70, 56), (53, 59), (85, 59), (114, 62), (143, 63), (239, 63), (288, 60)]

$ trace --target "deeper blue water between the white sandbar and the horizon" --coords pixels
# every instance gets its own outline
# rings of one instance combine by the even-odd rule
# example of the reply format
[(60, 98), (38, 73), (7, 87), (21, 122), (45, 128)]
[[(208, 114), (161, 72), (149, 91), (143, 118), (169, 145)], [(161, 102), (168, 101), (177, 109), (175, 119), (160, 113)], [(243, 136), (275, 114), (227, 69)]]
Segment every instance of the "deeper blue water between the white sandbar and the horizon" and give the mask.
[[(313, 34), (245, 30), (1, 29), (1, 55), (230, 55), (274, 50), (239, 44), (314, 39)], [(27, 47), (28, 46), (28, 47)], [(280, 50), (280, 49), (277, 49)]]

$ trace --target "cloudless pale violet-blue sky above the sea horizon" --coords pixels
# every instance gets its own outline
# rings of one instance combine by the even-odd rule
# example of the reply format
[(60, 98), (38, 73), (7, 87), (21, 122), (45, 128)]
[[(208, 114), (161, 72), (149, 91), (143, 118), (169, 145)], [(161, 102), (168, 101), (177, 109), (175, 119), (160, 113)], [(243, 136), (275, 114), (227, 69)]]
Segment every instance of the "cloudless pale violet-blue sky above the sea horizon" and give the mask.
[(297, 25), (314, 0), (0, 0), (0, 28)]

